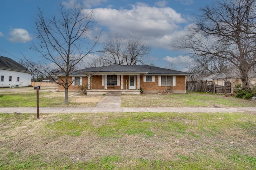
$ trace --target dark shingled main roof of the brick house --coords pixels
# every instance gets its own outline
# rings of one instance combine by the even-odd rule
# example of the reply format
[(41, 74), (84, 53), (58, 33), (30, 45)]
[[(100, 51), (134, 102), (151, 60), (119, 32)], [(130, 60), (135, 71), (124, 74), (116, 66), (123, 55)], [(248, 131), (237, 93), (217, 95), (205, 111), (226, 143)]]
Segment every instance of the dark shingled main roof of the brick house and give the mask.
[(102, 67), (90, 67), (78, 72), (138, 72), (144, 74), (181, 74), (181, 75), (190, 75), (188, 72), (182, 72), (177, 70), (170, 70), (167, 68), (160, 68), (149, 65), (109, 65)]

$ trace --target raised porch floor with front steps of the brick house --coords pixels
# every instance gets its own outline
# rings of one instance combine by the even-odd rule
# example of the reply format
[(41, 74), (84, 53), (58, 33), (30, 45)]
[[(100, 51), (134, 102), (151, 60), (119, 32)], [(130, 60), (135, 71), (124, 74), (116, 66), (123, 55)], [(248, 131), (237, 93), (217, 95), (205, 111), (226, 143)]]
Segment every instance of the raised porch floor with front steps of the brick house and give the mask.
[(87, 95), (122, 95), (122, 94), (140, 94), (140, 90), (87, 90)]

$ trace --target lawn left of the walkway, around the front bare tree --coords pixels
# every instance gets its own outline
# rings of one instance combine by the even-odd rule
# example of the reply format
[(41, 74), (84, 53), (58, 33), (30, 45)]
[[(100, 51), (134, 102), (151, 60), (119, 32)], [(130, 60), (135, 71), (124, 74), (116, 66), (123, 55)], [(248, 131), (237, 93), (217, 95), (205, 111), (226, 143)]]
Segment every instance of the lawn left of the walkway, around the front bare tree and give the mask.
[[(75, 95), (69, 92), (69, 103), (64, 104), (64, 92), (39, 91), (40, 107), (95, 107), (104, 96)], [(0, 92), (0, 107), (36, 107), (36, 90)]]

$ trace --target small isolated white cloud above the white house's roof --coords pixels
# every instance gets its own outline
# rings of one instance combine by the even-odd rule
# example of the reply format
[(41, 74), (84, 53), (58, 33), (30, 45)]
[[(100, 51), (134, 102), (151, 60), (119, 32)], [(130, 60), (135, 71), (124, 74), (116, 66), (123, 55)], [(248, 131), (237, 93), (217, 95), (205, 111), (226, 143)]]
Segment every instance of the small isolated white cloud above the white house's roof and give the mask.
[(26, 29), (14, 28), (9, 32), (9, 40), (15, 43), (26, 43), (32, 41), (32, 37)]

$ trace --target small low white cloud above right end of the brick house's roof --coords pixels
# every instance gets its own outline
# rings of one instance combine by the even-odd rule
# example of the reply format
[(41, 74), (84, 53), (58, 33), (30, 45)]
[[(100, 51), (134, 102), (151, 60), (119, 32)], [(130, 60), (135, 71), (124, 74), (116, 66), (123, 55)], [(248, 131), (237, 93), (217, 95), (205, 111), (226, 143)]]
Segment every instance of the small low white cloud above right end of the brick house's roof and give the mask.
[(167, 61), (168, 63), (171, 63), (177, 67), (184, 67), (187, 63), (193, 62), (193, 59), (188, 55), (186, 55), (186, 56), (178, 55), (176, 57), (166, 56), (163, 58), (163, 60)]

